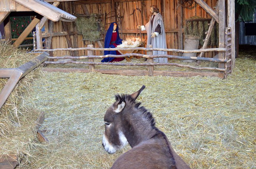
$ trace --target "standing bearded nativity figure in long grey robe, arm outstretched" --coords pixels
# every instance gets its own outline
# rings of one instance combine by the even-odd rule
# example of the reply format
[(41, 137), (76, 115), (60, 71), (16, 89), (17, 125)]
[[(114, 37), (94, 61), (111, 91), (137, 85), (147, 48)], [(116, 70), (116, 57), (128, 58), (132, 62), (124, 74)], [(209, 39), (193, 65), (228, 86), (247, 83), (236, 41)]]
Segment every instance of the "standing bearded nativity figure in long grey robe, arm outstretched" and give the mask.
[[(150, 6), (150, 12), (152, 14), (149, 22), (145, 26), (138, 26), (139, 29), (146, 30), (147, 32), (147, 44), (152, 45), (152, 48), (166, 48), (165, 38), (165, 26), (163, 24), (162, 15), (159, 13), (157, 6)], [(153, 55), (167, 54), (167, 51), (153, 51)], [(168, 58), (157, 57), (154, 58), (154, 62), (168, 63)]]

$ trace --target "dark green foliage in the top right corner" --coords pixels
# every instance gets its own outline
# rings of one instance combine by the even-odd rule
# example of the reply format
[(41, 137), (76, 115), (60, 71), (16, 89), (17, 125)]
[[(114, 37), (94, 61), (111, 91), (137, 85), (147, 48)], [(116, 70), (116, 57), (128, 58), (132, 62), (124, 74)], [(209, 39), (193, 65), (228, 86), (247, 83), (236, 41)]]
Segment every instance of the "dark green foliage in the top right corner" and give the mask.
[(253, 14), (256, 12), (256, 0), (237, 0), (235, 11), (239, 15), (239, 21), (253, 21)]

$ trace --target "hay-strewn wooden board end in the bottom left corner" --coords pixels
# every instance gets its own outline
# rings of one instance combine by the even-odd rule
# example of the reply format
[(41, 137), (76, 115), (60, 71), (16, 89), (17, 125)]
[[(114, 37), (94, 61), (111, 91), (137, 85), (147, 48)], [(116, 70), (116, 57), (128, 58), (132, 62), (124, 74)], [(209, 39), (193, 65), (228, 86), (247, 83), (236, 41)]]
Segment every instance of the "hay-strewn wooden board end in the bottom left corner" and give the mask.
[(0, 169), (14, 169), (19, 164), (15, 154), (0, 155)]

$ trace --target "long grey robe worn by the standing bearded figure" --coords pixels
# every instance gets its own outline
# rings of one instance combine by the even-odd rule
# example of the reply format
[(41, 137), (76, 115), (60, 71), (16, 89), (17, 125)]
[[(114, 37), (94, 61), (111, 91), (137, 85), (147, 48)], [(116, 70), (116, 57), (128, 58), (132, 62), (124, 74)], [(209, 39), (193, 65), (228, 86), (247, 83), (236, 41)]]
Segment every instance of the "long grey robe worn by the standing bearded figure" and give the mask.
[[(161, 26), (161, 33), (159, 33), (158, 36), (151, 38), (151, 33), (153, 33), (155, 31), (155, 28), (157, 27), (158, 24), (160, 24), (160, 26)], [(147, 35), (148, 35), (148, 41), (147, 41), (148, 45), (151, 44), (153, 48), (166, 48), (165, 26), (163, 24), (162, 15), (160, 13), (155, 14), (152, 29), (151, 29), (151, 19), (145, 25), (145, 29), (146, 29)], [(166, 51), (153, 51), (153, 55), (155, 55), (155, 54), (167, 54), (167, 52)], [(166, 58), (166, 57), (154, 58), (154, 62), (167, 63), (168, 58)]]

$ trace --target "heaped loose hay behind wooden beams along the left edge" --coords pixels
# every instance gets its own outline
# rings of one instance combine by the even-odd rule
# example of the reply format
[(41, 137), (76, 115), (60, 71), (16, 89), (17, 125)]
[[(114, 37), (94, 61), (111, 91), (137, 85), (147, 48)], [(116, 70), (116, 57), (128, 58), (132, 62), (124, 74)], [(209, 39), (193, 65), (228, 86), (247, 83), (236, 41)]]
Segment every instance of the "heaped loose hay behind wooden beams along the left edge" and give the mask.
[[(35, 55), (24, 49), (0, 42), (0, 68), (17, 68), (33, 58)], [(39, 112), (26, 107), (23, 96), (29, 93), (32, 81), (38, 77), (38, 69), (23, 77), (0, 109), (0, 157), (18, 154), (23, 162), (28, 162), (30, 148), (35, 144), (32, 131)], [(0, 78), (1, 91), (7, 81), (8, 78)]]

